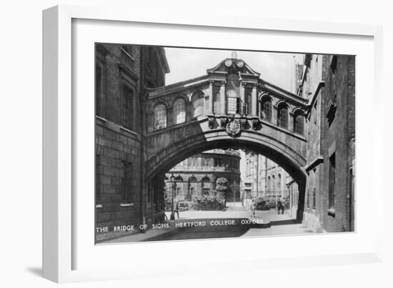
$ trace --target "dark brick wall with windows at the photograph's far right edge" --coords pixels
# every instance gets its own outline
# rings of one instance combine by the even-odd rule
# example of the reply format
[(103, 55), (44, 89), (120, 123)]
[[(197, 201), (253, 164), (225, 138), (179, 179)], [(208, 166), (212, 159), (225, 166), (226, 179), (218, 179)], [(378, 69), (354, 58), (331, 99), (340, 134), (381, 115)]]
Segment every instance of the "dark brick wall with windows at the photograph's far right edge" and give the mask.
[[(335, 153), (336, 173), (334, 206), (327, 207), (324, 229), (327, 232), (349, 231), (349, 168), (354, 160), (354, 56), (324, 56), (327, 66), (324, 101), (324, 201), (329, 200), (329, 157)], [(334, 119), (329, 124), (329, 109), (336, 104)], [(327, 116), (325, 116), (327, 115)]]

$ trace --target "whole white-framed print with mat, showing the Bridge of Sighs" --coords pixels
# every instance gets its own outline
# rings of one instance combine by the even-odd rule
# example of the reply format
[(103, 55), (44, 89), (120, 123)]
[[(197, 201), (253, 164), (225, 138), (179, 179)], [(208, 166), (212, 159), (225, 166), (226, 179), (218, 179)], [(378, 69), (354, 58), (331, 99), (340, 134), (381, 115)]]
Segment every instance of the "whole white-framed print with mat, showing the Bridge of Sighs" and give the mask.
[(378, 109), (380, 37), (224, 13), (44, 11), (44, 277), (379, 261), (366, 213), (382, 193), (366, 180), (379, 144), (359, 115)]

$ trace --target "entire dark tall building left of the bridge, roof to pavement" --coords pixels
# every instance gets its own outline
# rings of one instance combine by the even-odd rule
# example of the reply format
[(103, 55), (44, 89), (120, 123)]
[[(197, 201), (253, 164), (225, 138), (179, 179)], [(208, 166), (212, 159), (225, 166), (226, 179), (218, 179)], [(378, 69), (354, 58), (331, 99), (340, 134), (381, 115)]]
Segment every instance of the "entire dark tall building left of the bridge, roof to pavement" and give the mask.
[(156, 212), (143, 178), (145, 95), (165, 84), (169, 66), (158, 46), (96, 44), (95, 69), (96, 227), (109, 227), (100, 241)]

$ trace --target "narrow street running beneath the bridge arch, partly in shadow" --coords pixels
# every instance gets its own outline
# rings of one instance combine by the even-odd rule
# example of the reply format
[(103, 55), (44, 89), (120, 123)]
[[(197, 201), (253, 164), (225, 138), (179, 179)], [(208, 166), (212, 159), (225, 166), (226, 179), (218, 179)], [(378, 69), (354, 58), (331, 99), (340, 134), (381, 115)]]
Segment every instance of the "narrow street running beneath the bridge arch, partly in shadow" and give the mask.
[[(170, 217), (171, 212), (166, 212)], [(144, 233), (131, 234), (128, 236), (113, 239), (109, 243), (126, 242), (146, 242), (146, 241), (171, 241), (185, 239), (212, 239), (229, 237), (261, 237), (274, 235), (298, 235), (310, 234), (312, 231), (299, 224), (292, 217), (284, 212), (278, 214), (276, 209), (267, 211), (256, 211), (255, 217), (251, 217), (251, 212), (244, 207), (228, 207), (227, 211), (184, 211), (179, 212), (179, 219), (166, 221), (170, 229), (149, 229)], [(247, 222), (253, 220), (269, 224), (269, 226), (256, 227), (255, 225), (242, 225), (240, 221)], [(237, 222), (230, 226), (209, 226), (209, 223), (217, 221)], [(180, 223), (206, 222), (205, 227), (183, 227)]]

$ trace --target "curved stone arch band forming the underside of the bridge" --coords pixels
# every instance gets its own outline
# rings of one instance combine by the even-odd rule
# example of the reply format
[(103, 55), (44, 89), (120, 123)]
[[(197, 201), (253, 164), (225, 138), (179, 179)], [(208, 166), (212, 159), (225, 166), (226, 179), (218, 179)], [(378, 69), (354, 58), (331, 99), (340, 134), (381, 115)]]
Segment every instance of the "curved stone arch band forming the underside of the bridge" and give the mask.
[(239, 138), (232, 138), (225, 131), (210, 131), (179, 139), (147, 160), (146, 181), (157, 174), (168, 171), (176, 163), (186, 158), (217, 147), (220, 149), (248, 149), (268, 157), (282, 167), (298, 184), (297, 219), (302, 220), (304, 188), (307, 179), (304, 171), (304, 166), (307, 164), (306, 159), (302, 154), (292, 149), (290, 144), (254, 131), (242, 131), (242, 136)]

